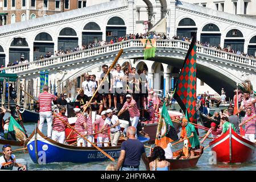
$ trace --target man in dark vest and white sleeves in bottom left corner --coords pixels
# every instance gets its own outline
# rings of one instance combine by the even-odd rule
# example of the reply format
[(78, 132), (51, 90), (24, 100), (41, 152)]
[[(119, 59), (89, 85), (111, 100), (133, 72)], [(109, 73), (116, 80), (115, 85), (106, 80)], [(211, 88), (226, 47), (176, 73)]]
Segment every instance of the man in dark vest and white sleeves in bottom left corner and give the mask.
[(27, 171), (26, 165), (16, 163), (15, 155), (12, 154), (11, 146), (5, 144), (2, 148), (3, 155), (0, 157), (0, 170), (13, 170), (13, 167), (22, 167), (23, 171)]

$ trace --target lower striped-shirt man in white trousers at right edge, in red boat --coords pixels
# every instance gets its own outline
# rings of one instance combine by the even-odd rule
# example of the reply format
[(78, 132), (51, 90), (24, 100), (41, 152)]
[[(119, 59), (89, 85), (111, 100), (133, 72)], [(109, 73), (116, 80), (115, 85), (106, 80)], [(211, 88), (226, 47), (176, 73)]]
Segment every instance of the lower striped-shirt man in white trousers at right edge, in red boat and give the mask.
[(246, 116), (242, 119), (239, 126), (245, 125), (245, 139), (254, 142), (255, 128), (256, 128), (256, 117), (255, 114), (251, 112), (251, 108), (246, 109)]

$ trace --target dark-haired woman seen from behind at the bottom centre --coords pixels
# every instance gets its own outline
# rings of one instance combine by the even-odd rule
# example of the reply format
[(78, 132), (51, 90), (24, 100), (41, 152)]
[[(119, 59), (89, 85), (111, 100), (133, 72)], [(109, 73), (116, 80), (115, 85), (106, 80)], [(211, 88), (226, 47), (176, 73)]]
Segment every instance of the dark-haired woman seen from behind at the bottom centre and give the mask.
[(162, 147), (155, 147), (152, 152), (152, 162), (150, 162), (151, 171), (169, 171), (170, 162), (164, 156), (165, 152)]

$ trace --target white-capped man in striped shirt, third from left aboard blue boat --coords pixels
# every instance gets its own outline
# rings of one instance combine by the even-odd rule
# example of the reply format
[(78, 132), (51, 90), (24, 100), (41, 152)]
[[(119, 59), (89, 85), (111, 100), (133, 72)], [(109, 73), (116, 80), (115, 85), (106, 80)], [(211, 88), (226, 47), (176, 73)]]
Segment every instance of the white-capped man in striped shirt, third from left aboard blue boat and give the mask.
[[(86, 118), (84, 115), (80, 113), (80, 108), (75, 107), (74, 111), (76, 114), (76, 123), (75, 123), (75, 130), (78, 131), (81, 135), (87, 134), (87, 125), (86, 125)], [(81, 137), (81, 135), (77, 134), (77, 146), (78, 147), (85, 147), (85, 139)]]

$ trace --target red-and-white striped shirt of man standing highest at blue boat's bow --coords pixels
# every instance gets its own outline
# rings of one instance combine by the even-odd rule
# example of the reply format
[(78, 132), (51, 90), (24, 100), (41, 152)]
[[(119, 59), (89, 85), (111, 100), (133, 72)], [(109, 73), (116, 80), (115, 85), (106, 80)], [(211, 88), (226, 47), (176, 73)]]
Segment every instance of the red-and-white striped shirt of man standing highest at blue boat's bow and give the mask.
[(52, 111), (52, 101), (57, 100), (57, 97), (51, 93), (43, 92), (39, 96), (39, 112)]

